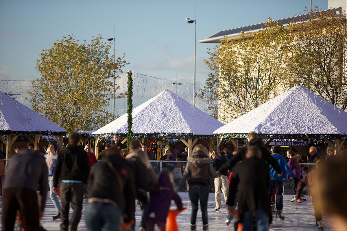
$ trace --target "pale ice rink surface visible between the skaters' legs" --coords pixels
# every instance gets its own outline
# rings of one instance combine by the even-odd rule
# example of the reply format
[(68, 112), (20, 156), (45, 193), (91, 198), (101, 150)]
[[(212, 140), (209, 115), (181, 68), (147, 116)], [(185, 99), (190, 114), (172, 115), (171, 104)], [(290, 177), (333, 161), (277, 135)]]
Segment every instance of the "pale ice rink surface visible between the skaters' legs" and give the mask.
[[(177, 216), (177, 224), (179, 230), (189, 231), (190, 230), (190, 213), (191, 206), (188, 198), (188, 193), (179, 193), (183, 207), (187, 207), (185, 211)], [(223, 197), (222, 197), (223, 198)], [(270, 225), (270, 230), (318, 230), (315, 225), (314, 210), (311, 202), (311, 198), (306, 196), (307, 201), (297, 204), (291, 203), (290, 199), (293, 198), (292, 195), (283, 195), (283, 214), (286, 216), (284, 221), (281, 221), (275, 215), (272, 216), (272, 224)], [(83, 202), (83, 211), (85, 209), (86, 199)], [(0, 197), (0, 207), (2, 207), (2, 197)], [(214, 193), (210, 193), (208, 202), (208, 215), (209, 215), (209, 228), (210, 231), (233, 231), (234, 225), (231, 223), (229, 226), (225, 224), (227, 216), (227, 206), (223, 204), (219, 212), (214, 211)], [(173, 202), (171, 204), (171, 209), (176, 209), (176, 204)], [(200, 206), (199, 206), (200, 209)], [(2, 211), (0, 211), (2, 213)], [(71, 213), (71, 208), (70, 208)], [(45, 213), (43, 219), (41, 220), (42, 226), (49, 231), (60, 230), (60, 219), (52, 221), (52, 216), (56, 215), (53, 202), (51, 201), (49, 194), (46, 199)], [(70, 214), (71, 215), (71, 214)], [(141, 221), (141, 209), (139, 205), (136, 204), (136, 227), (135, 231), (139, 228), (139, 222)], [(324, 230), (331, 230), (329, 228), (328, 217), (323, 214)], [(202, 220), (201, 211), (198, 211), (197, 221), (196, 221), (197, 231), (202, 230)], [(2, 228), (2, 223), (0, 224)], [(78, 230), (86, 230), (86, 225), (84, 221), (84, 212), (82, 212), (82, 219), (79, 222)]]

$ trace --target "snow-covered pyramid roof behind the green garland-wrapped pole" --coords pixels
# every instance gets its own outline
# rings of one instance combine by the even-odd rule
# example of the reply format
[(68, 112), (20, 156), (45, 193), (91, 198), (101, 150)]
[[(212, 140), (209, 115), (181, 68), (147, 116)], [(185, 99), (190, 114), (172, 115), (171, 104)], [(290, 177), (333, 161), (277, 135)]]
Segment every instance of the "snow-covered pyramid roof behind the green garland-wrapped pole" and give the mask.
[[(213, 131), (224, 125), (169, 90), (134, 108), (132, 116), (134, 134), (213, 135)], [(127, 114), (124, 114), (93, 134), (127, 132)]]

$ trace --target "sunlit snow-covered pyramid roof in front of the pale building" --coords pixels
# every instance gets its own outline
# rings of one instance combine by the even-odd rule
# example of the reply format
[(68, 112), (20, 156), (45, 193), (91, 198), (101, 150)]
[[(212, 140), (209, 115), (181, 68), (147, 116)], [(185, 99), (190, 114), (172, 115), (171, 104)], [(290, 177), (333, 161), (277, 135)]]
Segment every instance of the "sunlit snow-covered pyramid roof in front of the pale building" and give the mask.
[(214, 134), (347, 134), (347, 113), (302, 86), (283, 92)]

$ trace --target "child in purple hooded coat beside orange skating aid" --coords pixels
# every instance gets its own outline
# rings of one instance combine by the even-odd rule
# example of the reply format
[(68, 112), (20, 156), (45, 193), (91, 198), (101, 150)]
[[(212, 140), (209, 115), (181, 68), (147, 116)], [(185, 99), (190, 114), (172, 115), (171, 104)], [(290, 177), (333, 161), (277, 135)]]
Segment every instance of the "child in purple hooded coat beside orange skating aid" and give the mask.
[(159, 231), (165, 231), (171, 199), (176, 202), (177, 209), (182, 209), (181, 198), (174, 192), (174, 177), (171, 172), (163, 169), (159, 176), (159, 192), (150, 193), (147, 211), (147, 231), (154, 231), (154, 224)]

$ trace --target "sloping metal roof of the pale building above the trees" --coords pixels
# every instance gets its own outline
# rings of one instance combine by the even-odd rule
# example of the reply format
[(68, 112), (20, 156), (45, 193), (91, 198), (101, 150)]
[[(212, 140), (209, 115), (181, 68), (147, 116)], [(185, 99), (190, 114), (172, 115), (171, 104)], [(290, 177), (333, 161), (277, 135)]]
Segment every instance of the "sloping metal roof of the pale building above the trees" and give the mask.
[[(338, 11), (340, 12), (340, 14), (341, 14), (341, 10), (342, 10), (341, 7), (332, 9), (333, 12), (336, 13), (336, 11)], [(317, 12), (314, 12), (312, 14), (316, 14), (316, 13)], [(304, 15), (292, 16), (288, 18), (281, 18), (281, 19), (277, 19), (276, 21), (278, 21), (278, 23), (282, 24), (283, 26), (287, 26), (289, 25), (291, 21), (298, 22), (298, 21), (308, 19), (309, 17), (310, 17), (310, 14), (304, 14)], [(206, 38), (199, 40), (199, 43), (221, 43), (224, 36), (228, 36), (229, 38), (233, 38), (237, 40), (239, 38), (242, 38), (240, 32), (247, 33), (249, 30), (252, 30), (252, 32), (258, 32), (259, 30), (266, 28), (265, 23), (266, 22), (252, 24), (248, 26), (236, 27), (236, 28), (227, 29), (227, 30), (221, 30), (220, 32), (217, 32), (213, 35), (210, 35)]]

